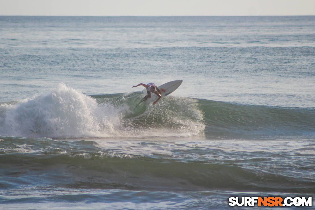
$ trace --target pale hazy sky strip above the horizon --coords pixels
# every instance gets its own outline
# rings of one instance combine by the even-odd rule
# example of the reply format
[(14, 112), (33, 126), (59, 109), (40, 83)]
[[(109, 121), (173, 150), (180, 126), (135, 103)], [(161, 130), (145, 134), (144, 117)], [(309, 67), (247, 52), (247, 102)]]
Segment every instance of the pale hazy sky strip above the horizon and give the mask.
[(315, 15), (315, 0), (0, 0), (0, 15)]

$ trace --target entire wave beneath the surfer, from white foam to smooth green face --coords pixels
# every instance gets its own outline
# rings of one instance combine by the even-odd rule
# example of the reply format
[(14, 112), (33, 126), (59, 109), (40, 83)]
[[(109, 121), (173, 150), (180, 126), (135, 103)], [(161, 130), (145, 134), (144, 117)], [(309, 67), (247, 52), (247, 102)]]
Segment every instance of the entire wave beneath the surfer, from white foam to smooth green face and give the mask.
[(240, 105), (144, 92), (86, 96), (60, 84), (48, 94), (0, 106), (0, 135), (21, 137), (273, 138), (315, 136), (313, 108)]

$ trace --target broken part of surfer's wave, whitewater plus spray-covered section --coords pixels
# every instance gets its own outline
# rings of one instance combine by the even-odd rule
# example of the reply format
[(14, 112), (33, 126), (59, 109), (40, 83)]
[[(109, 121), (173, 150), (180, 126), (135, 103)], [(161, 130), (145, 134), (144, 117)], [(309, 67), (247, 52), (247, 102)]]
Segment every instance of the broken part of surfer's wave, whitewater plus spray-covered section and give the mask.
[(48, 94), (0, 106), (0, 135), (21, 137), (169, 137), (203, 132), (196, 99), (136, 104), (142, 92), (86, 96), (64, 84)]

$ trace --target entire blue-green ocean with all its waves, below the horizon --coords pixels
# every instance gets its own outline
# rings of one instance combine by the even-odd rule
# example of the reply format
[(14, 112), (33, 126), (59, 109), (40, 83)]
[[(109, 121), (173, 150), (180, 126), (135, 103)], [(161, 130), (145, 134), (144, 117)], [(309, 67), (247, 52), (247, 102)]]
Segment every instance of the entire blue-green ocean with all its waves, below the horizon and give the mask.
[[(0, 16), (0, 208), (314, 206), (314, 29), (315, 16)], [(133, 85), (179, 79), (135, 108)]]

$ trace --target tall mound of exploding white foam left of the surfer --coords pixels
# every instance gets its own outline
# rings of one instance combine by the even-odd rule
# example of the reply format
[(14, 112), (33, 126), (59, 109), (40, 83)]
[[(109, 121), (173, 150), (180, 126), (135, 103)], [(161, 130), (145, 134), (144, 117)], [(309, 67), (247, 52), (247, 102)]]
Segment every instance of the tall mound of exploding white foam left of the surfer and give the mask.
[(64, 84), (14, 105), (2, 104), (1, 109), (1, 135), (8, 136), (106, 137), (119, 122), (114, 107), (100, 108), (95, 99)]

